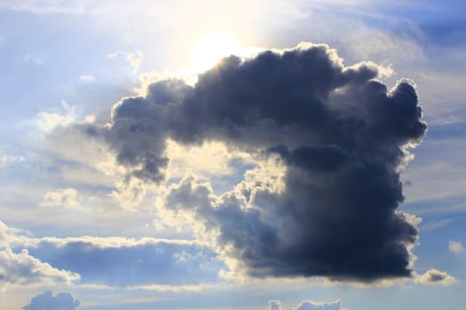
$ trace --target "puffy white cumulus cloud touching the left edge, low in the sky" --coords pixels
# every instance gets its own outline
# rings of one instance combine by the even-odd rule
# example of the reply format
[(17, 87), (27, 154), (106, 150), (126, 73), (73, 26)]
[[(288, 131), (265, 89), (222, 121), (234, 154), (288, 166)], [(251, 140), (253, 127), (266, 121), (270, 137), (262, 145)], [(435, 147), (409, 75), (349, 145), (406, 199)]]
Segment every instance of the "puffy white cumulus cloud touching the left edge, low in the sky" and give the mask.
[(15, 253), (11, 248), (6, 248), (0, 251), (0, 291), (16, 285), (72, 283), (79, 278), (75, 273), (51, 267), (36, 259), (29, 255), (28, 250)]

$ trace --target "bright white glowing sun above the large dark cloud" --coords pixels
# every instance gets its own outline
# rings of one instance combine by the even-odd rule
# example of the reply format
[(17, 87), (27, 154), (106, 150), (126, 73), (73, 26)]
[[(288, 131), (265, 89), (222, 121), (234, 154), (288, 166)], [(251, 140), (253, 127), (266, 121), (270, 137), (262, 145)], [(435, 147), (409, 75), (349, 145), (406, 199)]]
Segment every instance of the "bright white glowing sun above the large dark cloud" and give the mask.
[(213, 33), (202, 37), (194, 50), (192, 66), (196, 72), (204, 72), (218, 60), (235, 54), (240, 49), (230, 35)]

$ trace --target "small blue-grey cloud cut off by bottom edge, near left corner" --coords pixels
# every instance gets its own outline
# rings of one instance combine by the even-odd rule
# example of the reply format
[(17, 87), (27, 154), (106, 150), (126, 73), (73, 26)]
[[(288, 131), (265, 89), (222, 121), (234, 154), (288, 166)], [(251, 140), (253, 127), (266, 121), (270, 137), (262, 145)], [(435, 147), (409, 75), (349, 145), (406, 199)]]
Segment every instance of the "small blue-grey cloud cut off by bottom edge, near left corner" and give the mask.
[(31, 298), (28, 305), (21, 307), (22, 310), (78, 310), (81, 302), (71, 293), (44, 291), (42, 294)]

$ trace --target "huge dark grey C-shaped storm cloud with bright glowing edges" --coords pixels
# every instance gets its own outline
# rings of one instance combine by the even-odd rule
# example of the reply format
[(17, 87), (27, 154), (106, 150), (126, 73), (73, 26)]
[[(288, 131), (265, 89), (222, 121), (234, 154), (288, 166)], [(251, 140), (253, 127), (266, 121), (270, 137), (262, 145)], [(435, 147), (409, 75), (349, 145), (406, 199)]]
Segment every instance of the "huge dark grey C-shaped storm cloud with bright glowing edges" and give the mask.
[(407, 148), (426, 131), (412, 81), (387, 89), (372, 63), (344, 66), (327, 45), (235, 56), (184, 81), (158, 81), (115, 105), (107, 143), (120, 164), (161, 182), (166, 141), (224, 142), (285, 167), (283, 188), (260, 178), (220, 198), (186, 178), (168, 206), (194, 213), (249, 275), (370, 282), (411, 276), (415, 221), (403, 201)]

